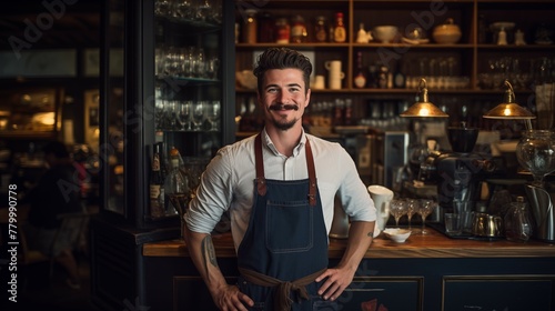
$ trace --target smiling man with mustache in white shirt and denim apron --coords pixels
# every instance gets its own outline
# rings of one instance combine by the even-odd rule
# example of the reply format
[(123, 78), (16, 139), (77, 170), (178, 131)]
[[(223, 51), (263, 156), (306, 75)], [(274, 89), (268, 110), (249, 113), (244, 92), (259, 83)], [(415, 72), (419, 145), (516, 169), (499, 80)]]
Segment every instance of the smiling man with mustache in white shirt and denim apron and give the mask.
[[(376, 212), (355, 163), (339, 144), (309, 133), (312, 64), (272, 48), (258, 59), (258, 101), (265, 127), (219, 150), (184, 215), (185, 243), (221, 310), (333, 308), (352, 282), (374, 232)], [(351, 228), (336, 267), (327, 234), (337, 195)], [(210, 232), (229, 211), (241, 275), (228, 284)]]

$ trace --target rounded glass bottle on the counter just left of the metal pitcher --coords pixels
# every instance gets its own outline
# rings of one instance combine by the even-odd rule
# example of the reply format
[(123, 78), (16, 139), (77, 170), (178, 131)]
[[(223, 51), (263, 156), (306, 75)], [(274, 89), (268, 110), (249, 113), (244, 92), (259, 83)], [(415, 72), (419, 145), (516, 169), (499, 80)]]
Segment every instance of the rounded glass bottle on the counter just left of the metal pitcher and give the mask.
[(532, 237), (532, 222), (523, 197), (517, 197), (516, 202), (505, 214), (505, 238), (514, 242), (526, 242)]

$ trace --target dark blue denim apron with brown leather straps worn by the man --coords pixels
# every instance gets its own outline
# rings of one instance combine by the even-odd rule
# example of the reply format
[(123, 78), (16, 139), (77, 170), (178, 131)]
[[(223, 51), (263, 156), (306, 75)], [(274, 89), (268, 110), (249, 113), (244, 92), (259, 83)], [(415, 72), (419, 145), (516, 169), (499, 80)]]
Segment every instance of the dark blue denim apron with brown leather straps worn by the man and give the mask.
[(253, 207), (238, 249), (238, 285), (254, 300), (250, 310), (327, 309), (333, 302), (317, 295), (320, 283), (314, 282), (327, 268), (327, 231), (310, 142), (309, 179), (283, 181), (264, 178), (261, 141), (259, 134)]

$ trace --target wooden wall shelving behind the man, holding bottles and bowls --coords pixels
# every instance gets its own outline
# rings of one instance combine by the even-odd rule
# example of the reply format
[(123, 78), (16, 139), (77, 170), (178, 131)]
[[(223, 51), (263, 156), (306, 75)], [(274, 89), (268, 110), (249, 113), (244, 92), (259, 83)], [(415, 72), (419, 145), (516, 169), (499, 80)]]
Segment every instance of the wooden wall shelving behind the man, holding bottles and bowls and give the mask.
[[(242, 26), (245, 2), (236, 1), (235, 21)], [(555, 44), (538, 44), (534, 42), (535, 31), (538, 27), (546, 27), (555, 30), (553, 16), (555, 13), (555, 1), (498, 1), (498, 0), (445, 0), (445, 1), (422, 1), (422, 0), (344, 0), (344, 1), (264, 1), (256, 7), (251, 3), (249, 9), (256, 9), (259, 13), (268, 12), (274, 18), (285, 17), (291, 20), (295, 14), (300, 14), (306, 22), (309, 30), (306, 43), (289, 43), (289, 48), (314, 53), (314, 74), (324, 74), (327, 79), (327, 71), (324, 62), (331, 59), (343, 61), (342, 69), (345, 78), (342, 81), (341, 90), (312, 90), (312, 101), (329, 100), (339, 96), (349, 96), (355, 104), (354, 113), (357, 118), (366, 118), (370, 100), (400, 100), (413, 101), (416, 93), (415, 88), (402, 89), (376, 89), (354, 86), (356, 74), (356, 54), (362, 52), (363, 68), (382, 61), (390, 70), (396, 71), (401, 67), (403, 74), (407, 77), (430, 76), (428, 68), (422, 70), (422, 64), (427, 64), (430, 60), (447, 59), (455, 60), (456, 66), (452, 74), (467, 77), (468, 82), (463, 88), (436, 88), (428, 84), (431, 100), (437, 106), (445, 106), (450, 114), (456, 114), (461, 102), (475, 109), (476, 113), (481, 109), (487, 109), (488, 104), (498, 103), (503, 98), (503, 90), (495, 86), (484, 88), (481, 82), (484, 72), (491, 71), (491, 62), (511, 57), (519, 60), (521, 70), (531, 71), (532, 60), (549, 58), (553, 61)], [(345, 43), (314, 42), (313, 26), (317, 16), (324, 16), (331, 24), (335, 12), (344, 13), (344, 21), (347, 29), (347, 41)], [(452, 18), (454, 23), (462, 30), (462, 38), (455, 44), (438, 44), (432, 38), (434, 27), (445, 23)], [(521, 29), (525, 33), (526, 46), (515, 46), (513, 36), (509, 36), (507, 46), (497, 46), (493, 42), (493, 33), (490, 24), (497, 21), (515, 22), (514, 29)], [(393, 24), (398, 27), (400, 33), (417, 24), (426, 32), (430, 43), (406, 44), (380, 43), (371, 41), (369, 43), (357, 43), (356, 33), (360, 23), (364, 23), (364, 29), (369, 31), (375, 26)], [(482, 29), (483, 27), (486, 29)], [(482, 31), (485, 31), (485, 41), (482, 41)], [(481, 36), (478, 36), (481, 34)], [(509, 33), (511, 34), (511, 33)], [(552, 34), (552, 40), (554, 36)], [(241, 36), (235, 44), (236, 61), (235, 70), (252, 69), (253, 53), (269, 47), (282, 47), (273, 42), (243, 43)], [(384, 59), (385, 56), (385, 59)], [(367, 70), (366, 70), (367, 74)], [(367, 76), (366, 76), (367, 77)], [(495, 76), (501, 86), (505, 77)], [(532, 79), (532, 78), (531, 78)], [(519, 84), (519, 83), (514, 83)], [(525, 88), (516, 88), (516, 98), (519, 102), (529, 104), (533, 93), (533, 81), (528, 80)], [(327, 87), (327, 81), (326, 81)], [(238, 100), (254, 93), (253, 90), (236, 89)], [(453, 103), (453, 102), (457, 103)]]

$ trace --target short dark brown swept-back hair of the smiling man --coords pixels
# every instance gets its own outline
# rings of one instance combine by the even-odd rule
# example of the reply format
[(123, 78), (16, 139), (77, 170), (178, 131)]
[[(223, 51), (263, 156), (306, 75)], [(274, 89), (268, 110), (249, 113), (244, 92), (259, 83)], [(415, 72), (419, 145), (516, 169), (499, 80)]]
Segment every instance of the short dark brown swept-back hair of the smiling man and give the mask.
[(262, 93), (264, 73), (271, 69), (299, 69), (303, 72), (306, 93), (310, 89), (310, 77), (312, 73), (312, 63), (310, 59), (302, 53), (287, 48), (270, 48), (256, 59), (256, 67), (253, 70), (259, 82), (259, 93)]

